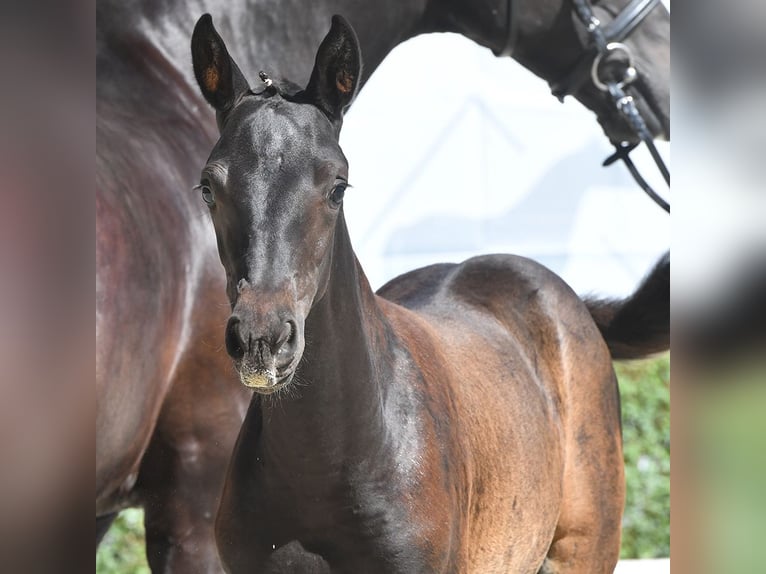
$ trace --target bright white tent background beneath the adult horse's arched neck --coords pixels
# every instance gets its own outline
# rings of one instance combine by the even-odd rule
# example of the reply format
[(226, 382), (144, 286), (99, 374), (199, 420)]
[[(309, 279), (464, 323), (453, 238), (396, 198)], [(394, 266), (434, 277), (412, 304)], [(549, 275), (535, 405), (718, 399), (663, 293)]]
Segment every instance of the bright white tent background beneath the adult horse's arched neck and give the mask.
[(415, 267), (509, 252), (577, 292), (618, 296), (670, 246), (669, 216), (624, 166), (601, 167), (611, 149), (595, 116), (461, 36), (395, 49), (348, 113), (341, 144), (354, 186), (346, 217), (374, 288)]

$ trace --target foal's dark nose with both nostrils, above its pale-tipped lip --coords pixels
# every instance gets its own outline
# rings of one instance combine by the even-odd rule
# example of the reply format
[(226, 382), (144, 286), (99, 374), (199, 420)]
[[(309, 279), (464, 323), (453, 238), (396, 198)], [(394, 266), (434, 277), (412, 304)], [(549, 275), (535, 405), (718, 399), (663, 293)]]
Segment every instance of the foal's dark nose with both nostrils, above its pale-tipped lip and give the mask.
[(276, 316), (272, 321), (248, 325), (237, 314), (229, 317), (226, 325), (226, 351), (237, 360), (248, 358), (256, 368), (271, 370), (278, 363), (289, 363), (295, 354), (297, 326), (292, 318)]

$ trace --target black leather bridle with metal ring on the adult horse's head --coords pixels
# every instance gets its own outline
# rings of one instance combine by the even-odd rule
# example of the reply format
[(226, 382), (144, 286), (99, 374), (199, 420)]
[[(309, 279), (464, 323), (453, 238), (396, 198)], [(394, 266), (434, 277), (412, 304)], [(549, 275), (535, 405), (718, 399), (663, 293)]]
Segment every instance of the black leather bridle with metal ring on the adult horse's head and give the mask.
[[(518, 0), (507, 1), (506, 42), (502, 50), (495, 52), (497, 56), (510, 57), (513, 54), (518, 38), (518, 18), (516, 17), (518, 3)], [(630, 48), (622, 43), (622, 40), (630, 36), (633, 30), (643, 22), (647, 14), (657, 7), (660, 0), (631, 0), (608, 24), (602, 24), (596, 18), (590, 0), (572, 0), (572, 3), (579, 21), (585, 26), (588, 33), (589, 43), (574, 67), (562, 78), (551, 82), (551, 92), (560, 101), (563, 101), (565, 96), (575, 94), (590, 80), (598, 90), (608, 93), (618, 112), (622, 114), (639, 140), (646, 144), (652, 159), (665, 179), (665, 183), (670, 185), (670, 172), (654, 145), (654, 139), (646, 121), (636, 107), (633, 97), (625, 92), (625, 87), (638, 78), (638, 70), (633, 65), (633, 54)], [(602, 78), (600, 75), (602, 62), (617, 54), (623, 54), (627, 58), (622, 78), (618, 80)], [(603, 165), (608, 166), (617, 160), (622, 160), (641, 189), (657, 205), (670, 213), (670, 204), (654, 191), (630, 159), (630, 152), (638, 145), (638, 143), (630, 144), (627, 142), (615, 143), (615, 152), (604, 160)]]

